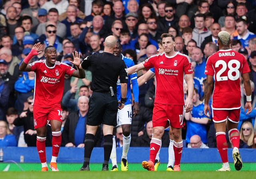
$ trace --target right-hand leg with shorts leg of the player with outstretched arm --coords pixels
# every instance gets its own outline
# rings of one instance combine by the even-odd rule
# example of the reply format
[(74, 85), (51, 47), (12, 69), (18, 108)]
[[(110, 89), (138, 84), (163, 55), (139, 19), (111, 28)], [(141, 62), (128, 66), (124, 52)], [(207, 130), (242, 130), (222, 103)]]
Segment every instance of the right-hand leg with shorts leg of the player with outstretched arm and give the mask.
[(168, 105), (168, 119), (170, 119), (173, 135), (173, 150), (174, 150), (174, 171), (180, 171), (180, 160), (182, 156), (182, 133), (184, 117), (183, 105)]

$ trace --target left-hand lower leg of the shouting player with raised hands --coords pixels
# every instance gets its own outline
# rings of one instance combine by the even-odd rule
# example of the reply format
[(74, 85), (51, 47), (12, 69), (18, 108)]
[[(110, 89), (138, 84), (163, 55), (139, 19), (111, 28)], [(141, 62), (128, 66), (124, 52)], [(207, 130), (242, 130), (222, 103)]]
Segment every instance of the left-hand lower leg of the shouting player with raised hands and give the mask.
[(36, 148), (38, 151), (39, 159), (42, 164), (42, 171), (48, 171), (48, 166), (46, 163), (46, 149), (45, 149), (45, 141), (46, 141), (46, 126), (36, 128)]

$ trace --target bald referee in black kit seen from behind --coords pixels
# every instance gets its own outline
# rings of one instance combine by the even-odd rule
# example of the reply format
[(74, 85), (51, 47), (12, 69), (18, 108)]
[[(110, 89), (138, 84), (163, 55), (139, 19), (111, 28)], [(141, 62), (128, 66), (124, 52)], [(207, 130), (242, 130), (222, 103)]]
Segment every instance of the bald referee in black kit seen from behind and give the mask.
[[(94, 138), (98, 125), (103, 124), (104, 135), (104, 162), (102, 170), (108, 171), (108, 161), (113, 145), (113, 126), (117, 125), (116, 116), (118, 108), (122, 109), (126, 102), (128, 75), (123, 60), (113, 55), (117, 39), (108, 36), (103, 43), (104, 52), (93, 54), (84, 59), (80, 69), (91, 66), (93, 91), (89, 102), (88, 119), (86, 123), (86, 135), (84, 140), (84, 164), (80, 170), (90, 170), (89, 163), (94, 147)], [(118, 76), (121, 83), (122, 99), (118, 106), (116, 98), (116, 82)]]

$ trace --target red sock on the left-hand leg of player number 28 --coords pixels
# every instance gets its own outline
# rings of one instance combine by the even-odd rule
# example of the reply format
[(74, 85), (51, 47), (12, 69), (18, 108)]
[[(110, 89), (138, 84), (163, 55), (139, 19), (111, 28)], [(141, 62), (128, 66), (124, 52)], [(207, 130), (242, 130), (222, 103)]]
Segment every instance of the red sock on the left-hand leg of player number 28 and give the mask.
[(223, 163), (228, 162), (228, 143), (225, 132), (216, 132), (217, 149)]

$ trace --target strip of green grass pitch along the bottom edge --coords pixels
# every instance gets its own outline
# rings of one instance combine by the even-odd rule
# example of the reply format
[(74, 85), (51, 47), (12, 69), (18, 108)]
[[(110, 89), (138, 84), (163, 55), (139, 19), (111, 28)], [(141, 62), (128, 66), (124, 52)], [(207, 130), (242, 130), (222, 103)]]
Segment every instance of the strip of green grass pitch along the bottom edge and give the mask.
[(60, 172), (0, 172), (1, 179), (242, 179), (254, 178), (256, 172), (234, 171), (181, 171), (181, 172), (150, 172), (150, 171), (60, 171)]

